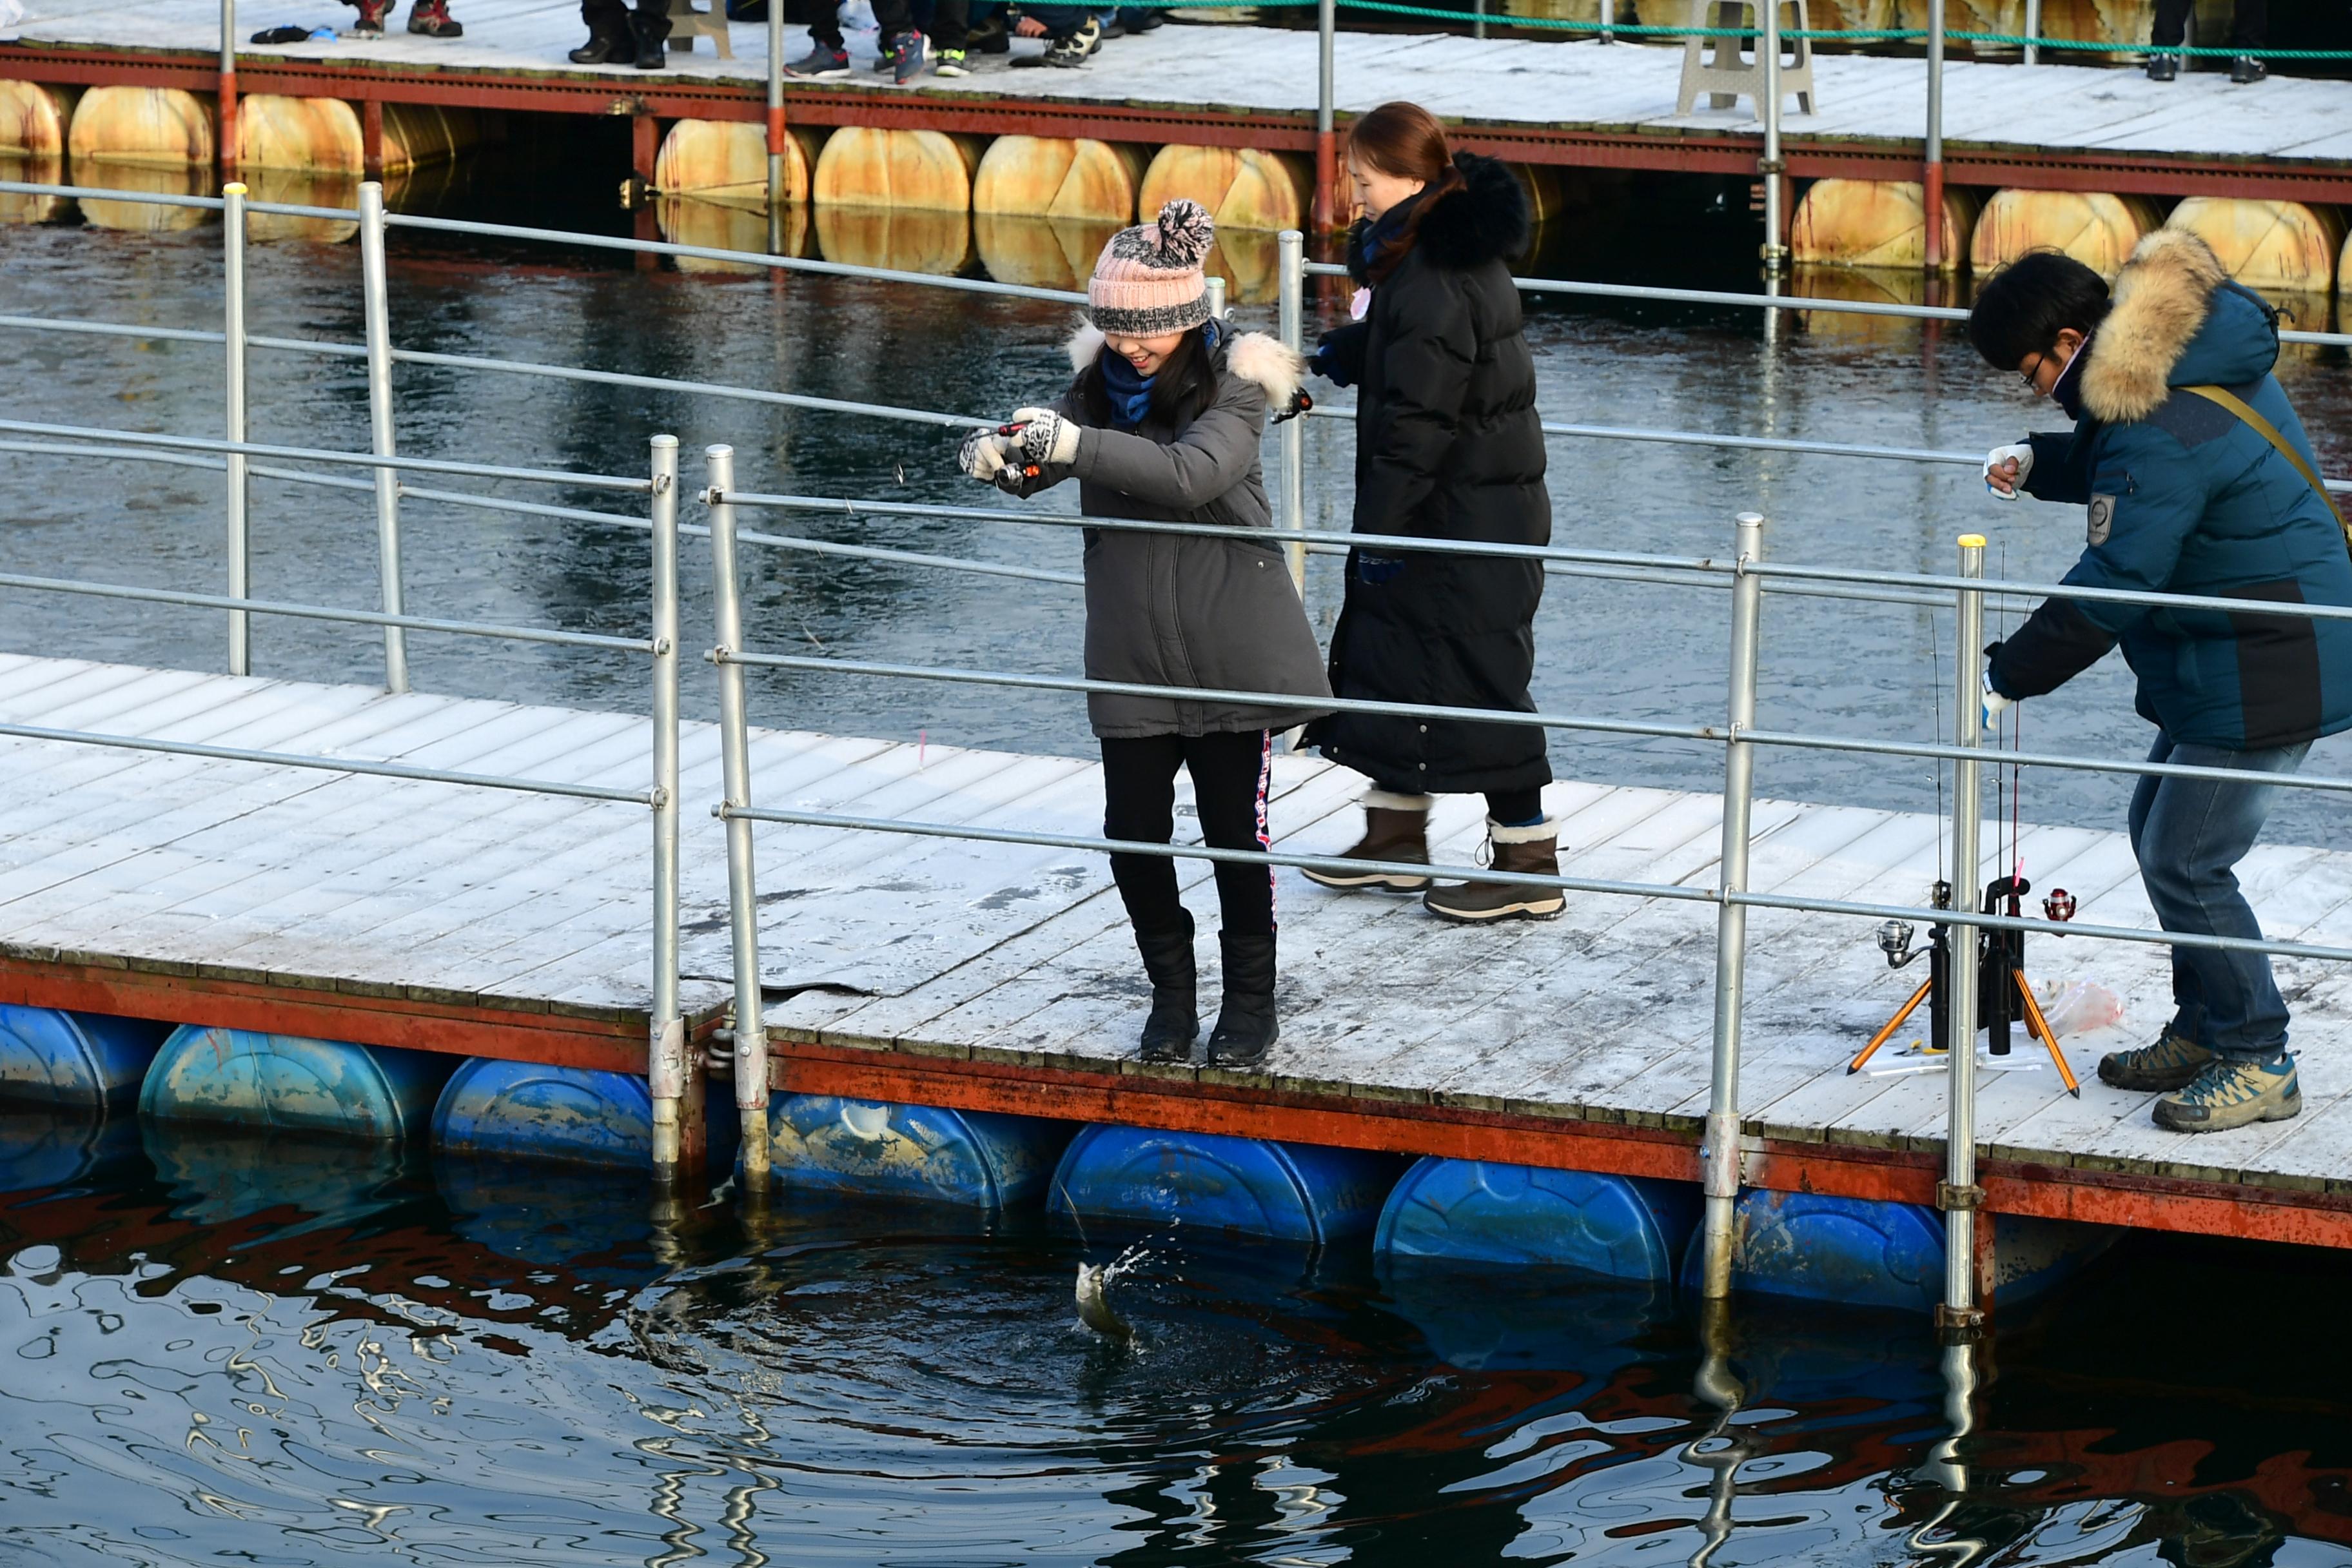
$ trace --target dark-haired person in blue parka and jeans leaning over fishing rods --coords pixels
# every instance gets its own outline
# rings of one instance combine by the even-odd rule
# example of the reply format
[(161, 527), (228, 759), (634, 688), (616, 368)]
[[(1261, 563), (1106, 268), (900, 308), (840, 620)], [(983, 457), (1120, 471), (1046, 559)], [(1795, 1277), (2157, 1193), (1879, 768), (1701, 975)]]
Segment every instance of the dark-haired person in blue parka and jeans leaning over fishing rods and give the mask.
[[(2190, 233), (2138, 244), (2110, 299), (2079, 261), (2034, 254), (1985, 284), (1969, 339), (2074, 421), (1985, 461), (2006, 498), (2086, 508), (2067, 583), (2272, 604), (2352, 604), (2343, 524), (2272, 442), (2190, 388), (2220, 388), (2317, 473), (2310, 440), (2270, 374), (2277, 313), (2227, 280)], [(1987, 722), (2053, 691), (2122, 644), (2150, 762), (2249, 773), (2246, 783), (2143, 776), (2131, 849), (2166, 931), (2260, 938), (2234, 865), (2319, 736), (2352, 726), (2352, 621), (2049, 599), (1987, 649)], [(2098, 1077), (2166, 1091), (2157, 1126), (2213, 1133), (2303, 1110), (2286, 1053), (2286, 1001), (2260, 952), (2173, 947), (2173, 1020), (2152, 1046), (2117, 1051)]]

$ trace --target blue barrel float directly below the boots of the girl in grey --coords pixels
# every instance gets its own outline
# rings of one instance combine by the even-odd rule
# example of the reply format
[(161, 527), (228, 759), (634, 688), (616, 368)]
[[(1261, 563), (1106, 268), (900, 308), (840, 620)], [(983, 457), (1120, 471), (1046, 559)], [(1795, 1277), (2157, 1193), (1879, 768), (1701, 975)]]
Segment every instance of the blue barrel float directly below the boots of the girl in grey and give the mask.
[(1399, 1164), (1367, 1150), (1089, 1126), (1061, 1157), (1047, 1211), (1319, 1246), (1381, 1220)]

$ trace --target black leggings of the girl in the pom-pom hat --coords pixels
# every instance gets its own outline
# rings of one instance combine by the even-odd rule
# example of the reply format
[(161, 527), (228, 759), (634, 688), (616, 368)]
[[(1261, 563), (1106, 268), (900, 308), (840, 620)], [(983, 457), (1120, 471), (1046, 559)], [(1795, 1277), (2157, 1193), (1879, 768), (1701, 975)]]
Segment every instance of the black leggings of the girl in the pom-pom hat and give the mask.
[[(1200, 837), (1211, 849), (1265, 849), (1265, 783), (1275, 738), (1263, 729), (1223, 736), (1103, 741), (1103, 837), (1167, 844), (1176, 837), (1176, 769), (1192, 771)], [(1110, 856), (1110, 879), (1136, 931), (1190, 931), (1167, 856)], [(1225, 936), (1275, 933), (1275, 867), (1216, 863)]]

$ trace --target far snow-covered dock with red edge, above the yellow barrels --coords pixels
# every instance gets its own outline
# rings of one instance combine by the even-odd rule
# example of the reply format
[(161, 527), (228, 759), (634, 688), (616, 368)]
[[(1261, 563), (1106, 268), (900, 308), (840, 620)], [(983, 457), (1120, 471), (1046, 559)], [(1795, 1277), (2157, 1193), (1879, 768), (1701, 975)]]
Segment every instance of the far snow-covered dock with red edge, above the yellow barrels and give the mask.
[[(642, 169), (661, 120), (764, 122), (767, 33), (731, 28), (734, 59), (710, 42), (659, 73), (572, 66), (586, 35), (569, 0), (461, 0), (466, 38), (397, 31), (381, 40), (238, 45), (238, 92), (332, 96), (358, 106), (421, 103), (576, 115), (633, 115)], [(329, 0), (247, 7), (238, 26), (296, 19), (341, 26)], [(31, 0), (0, 78), (68, 87), (176, 87), (221, 80), (212, 0)], [(802, 47), (802, 28), (788, 28)], [(1037, 45), (1018, 45), (1021, 54)], [(1084, 136), (1312, 153), (1312, 31), (1169, 26), (1120, 38), (1080, 71), (1018, 71), (974, 56), (974, 75), (891, 89), (790, 82), (786, 118), (948, 134)], [(2129, 52), (2126, 52), (2129, 54)], [(1016, 54), (1018, 59), (1018, 54)], [(1926, 75), (1915, 59), (1823, 54), (1818, 113), (1785, 120), (1792, 179), (1919, 176)], [(1336, 110), (1411, 96), (1458, 122), (1472, 150), (1531, 165), (1752, 176), (1762, 127), (1733, 110), (1675, 113), (1679, 47), (1338, 33)], [(2272, 78), (2230, 87), (2220, 73), (2147, 82), (2136, 71), (1955, 61), (1945, 68), (1945, 181), (2091, 193), (2227, 195), (2352, 202), (2352, 94), (2333, 80)]]

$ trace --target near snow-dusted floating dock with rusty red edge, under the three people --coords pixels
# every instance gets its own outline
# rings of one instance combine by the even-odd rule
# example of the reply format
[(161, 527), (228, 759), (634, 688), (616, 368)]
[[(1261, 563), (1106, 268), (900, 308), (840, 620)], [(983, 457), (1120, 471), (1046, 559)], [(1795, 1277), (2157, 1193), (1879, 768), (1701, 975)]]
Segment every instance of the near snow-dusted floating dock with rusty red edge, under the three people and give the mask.
[[(66, 658), (0, 656), (0, 724), (609, 788), (652, 776), (640, 717)], [(644, 1072), (642, 806), (33, 738), (0, 738), (0, 1001)], [(1068, 757), (755, 731), (753, 778), (755, 802), (800, 811), (1101, 823), (1098, 769)], [(1352, 839), (1355, 773), (1291, 755), (1275, 785), (1277, 849)], [(682, 795), (682, 1006), (710, 1034), (729, 994), (715, 726), (684, 729)], [(1548, 806), (1576, 875), (1712, 886), (1712, 795), (1559, 783)], [(1437, 858), (1468, 863), (1477, 802), (1444, 802), (1435, 827)], [(1279, 872), (1282, 1044), (1270, 1072), (1235, 1074), (1134, 1060), (1148, 992), (1098, 856), (781, 825), (757, 839), (776, 1091), (1698, 1178), (1710, 905), (1571, 896), (1559, 922), (1475, 931)], [(1912, 903), (1936, 844), (1931, 816), (1759, 799), (1750, 886)], [(2152, 924), (2122, 835), (2027, 827), (2020, 851), (2082, 919)], [(1207, 867), (1178, 865), (1207, 912)], [(2274, 938), (2352, 940), (2352, 853), (2274, 844), (2239, 875)], [(1204, 919), (1209, 997), (1214, 952)], [(2112, 987), (2126, 1025), (2063, 1041), (2079, 1100), (2023, 1044), (2018, 1070), (1983, 1074), (1987, 1211), (2352, 1246), (2352, 978), (2279, 961), (2300, 1119), (2183, 1138), (2147, 1121), (2150, 1095), (2093, 1077), (2169, 1013), (2164, 952), (2037, 940), (2027, 969), (2044, 990)], [(1940, 1074), (1846, 1074), (1910, 985), (1860, 922), (1750, 912), (1750, 1187), (1933, 1201)]]

